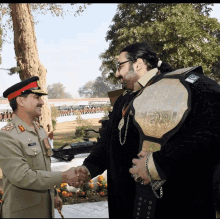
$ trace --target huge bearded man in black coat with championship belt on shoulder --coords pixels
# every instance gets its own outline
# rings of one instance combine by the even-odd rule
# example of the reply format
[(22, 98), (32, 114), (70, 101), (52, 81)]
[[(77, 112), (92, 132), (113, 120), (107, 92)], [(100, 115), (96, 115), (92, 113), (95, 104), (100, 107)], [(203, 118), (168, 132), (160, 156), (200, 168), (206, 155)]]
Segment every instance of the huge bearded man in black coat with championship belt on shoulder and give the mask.
[(109, 217), (215, 218), (220, 86), (200, 66), (173, 71), (147, 43), (121, 51), (116, 76), (125, 92), (78, 167), (107, 169)]

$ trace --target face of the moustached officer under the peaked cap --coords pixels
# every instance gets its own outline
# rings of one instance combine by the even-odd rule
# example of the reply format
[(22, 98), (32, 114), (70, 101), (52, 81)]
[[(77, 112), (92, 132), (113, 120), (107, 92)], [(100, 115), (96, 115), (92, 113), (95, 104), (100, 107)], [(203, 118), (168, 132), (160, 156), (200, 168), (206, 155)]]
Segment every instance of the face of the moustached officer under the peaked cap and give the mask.
[(24, 110), (31, 117), (41, 116), (41, 108), (43, 105), (44, 101), (42, 100), (41, 96), (37, 94), (31, 93), (23, 100)]

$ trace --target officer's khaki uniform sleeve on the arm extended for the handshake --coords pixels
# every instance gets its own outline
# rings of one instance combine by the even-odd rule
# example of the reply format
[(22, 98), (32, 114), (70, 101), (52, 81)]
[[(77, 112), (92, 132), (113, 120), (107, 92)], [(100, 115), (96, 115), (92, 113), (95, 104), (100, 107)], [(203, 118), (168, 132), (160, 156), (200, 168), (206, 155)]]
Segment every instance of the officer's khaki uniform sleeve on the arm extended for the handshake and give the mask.
[(0, 167), (13, 185), (34, 190), (53, 189), (62, 183), (62, 172), (30, 169), (20, 143), (7, 132), (0, 131)]

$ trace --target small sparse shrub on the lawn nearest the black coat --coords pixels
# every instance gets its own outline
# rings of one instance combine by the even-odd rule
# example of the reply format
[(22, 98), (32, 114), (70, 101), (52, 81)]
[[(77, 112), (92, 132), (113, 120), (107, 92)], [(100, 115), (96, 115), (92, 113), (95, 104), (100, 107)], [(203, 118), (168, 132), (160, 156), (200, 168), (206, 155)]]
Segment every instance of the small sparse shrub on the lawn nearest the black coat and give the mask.
[(83, 119), (81, 116), (81, 113), (76, 110), (76, 123), (79, 126), (76, 126), (76, 132), (75, 132), (75, 136), (79, 139), (83, 139), (84, 137), (86, 137), (86, 129), (92, 129), (92, 124), (89, 123), (87, 120)]

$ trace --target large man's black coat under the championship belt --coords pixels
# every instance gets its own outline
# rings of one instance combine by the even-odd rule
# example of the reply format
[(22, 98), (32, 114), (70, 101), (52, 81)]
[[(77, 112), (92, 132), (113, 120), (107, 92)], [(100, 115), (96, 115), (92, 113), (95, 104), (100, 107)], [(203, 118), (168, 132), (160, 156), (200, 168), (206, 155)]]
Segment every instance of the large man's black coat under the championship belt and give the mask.
[[(188, 75), (178, 77), (184, 80)], [(213, 198), (213, 173), (220, 158), (220, 86), (197, 75), (198, 81), (186, 85), (188, 116), (161, 150), (153, 153), (160, 176), (167, 180), (163, 197), (156, 202), (155, 218), (215, 218), (214, 199), (218, 197)], [(154, 83), (163, 77), (159, 75)], [(134, 95), (118, 98), (97, 148), (84, 161), (92, 177), (107, 169), (110, 218), (132, 218), (133, 214), (135, 182), (129, 168), (140, 151), (140, 138), (132, 115), (126, 115), (130, 117), (128, 134), (125, 145), (120, 145), (118, 123), (124, 104)]]

